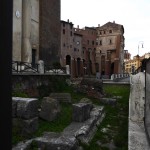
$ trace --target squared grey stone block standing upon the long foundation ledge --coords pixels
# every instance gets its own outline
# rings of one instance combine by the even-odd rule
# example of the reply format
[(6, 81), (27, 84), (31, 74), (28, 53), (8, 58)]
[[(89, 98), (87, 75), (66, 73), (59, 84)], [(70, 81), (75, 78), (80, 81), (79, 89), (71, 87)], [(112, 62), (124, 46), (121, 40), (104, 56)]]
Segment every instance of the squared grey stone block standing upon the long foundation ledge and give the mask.
[(91, 103), (77, 103), (73, 104), (73, 121), (82, 122), (90, 117), (90, 111), (92, 108)]

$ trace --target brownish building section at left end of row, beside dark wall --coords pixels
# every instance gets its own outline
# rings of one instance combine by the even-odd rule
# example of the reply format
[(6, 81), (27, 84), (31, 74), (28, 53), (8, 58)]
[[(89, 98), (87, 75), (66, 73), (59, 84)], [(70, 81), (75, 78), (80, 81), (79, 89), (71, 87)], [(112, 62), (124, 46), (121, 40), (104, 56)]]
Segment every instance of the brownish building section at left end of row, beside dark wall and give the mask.
[(61, 66), (69, 65), (72, 77), (83, 76), (82, 35), (74, 33), (72, 22), (61, 21)]

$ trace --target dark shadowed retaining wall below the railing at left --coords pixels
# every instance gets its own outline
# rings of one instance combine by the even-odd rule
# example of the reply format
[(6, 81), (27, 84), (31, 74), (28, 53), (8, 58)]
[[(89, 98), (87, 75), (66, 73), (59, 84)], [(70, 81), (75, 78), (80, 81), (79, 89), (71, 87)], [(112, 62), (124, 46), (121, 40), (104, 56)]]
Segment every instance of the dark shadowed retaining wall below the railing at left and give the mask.
[(69, 75), (13, 75), (13, 96), (25, 93), (28, 97), (49, 96), (50, 92), (62, 91)]

